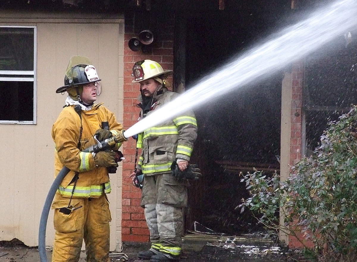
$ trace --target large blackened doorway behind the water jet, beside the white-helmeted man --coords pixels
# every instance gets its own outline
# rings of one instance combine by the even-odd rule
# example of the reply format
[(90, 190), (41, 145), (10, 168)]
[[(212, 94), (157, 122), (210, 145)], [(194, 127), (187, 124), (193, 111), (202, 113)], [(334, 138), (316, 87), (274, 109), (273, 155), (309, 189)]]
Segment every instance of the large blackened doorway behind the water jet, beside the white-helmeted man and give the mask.
[[(186, 87), (270, 34), (290, 4), (242, 1), (220, 12), (189, 16)], [(240, 182), (240, 172), (253, 172), (253, 167), (267, 173), (279, 171), (282, 77), (283, 72), (267, 72), (261, 81), (239, 86), (194, 110), (198, 138), (191, 162), (200, 166), (203, 178), (189, 187), (186, 234), (207, 231), (249, 236), (262, 232), (250, 211), (241, 213), (237, 208), (249, 194)]]

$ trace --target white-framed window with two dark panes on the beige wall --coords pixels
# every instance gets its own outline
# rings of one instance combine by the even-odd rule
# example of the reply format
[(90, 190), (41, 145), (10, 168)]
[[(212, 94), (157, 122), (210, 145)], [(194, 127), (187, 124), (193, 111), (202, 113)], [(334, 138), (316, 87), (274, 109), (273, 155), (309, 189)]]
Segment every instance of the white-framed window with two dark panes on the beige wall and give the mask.
[(0, 123), (36, 124), (36, 27), (0, 26)]

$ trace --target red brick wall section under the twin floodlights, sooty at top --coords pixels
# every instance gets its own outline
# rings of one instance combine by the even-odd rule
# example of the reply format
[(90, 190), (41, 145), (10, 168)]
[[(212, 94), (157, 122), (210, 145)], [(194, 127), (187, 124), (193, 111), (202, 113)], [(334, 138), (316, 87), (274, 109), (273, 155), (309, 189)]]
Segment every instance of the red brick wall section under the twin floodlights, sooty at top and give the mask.
[[(155, 16), (155, 23), (153, 23), (150, 21), (150, 16), (150, 14), (125, 15), (123, 116), (125, 130), (137, 122), (140, 112), (139, 107), (136, 106), (140, 86), (131, 82), (134, 62), (151, 59), (158, 62), (164, 70), (173, 69), (174, 21), (170, 17), (162, 16), (158, 19)], [(147, 24), (145, 25), (143, 21)], [(145, 54), (142, 51), (131, 51), (128, 47), (129, 40), (145, 29), (152, 30), (154, 33), (152, 50)], [(172, 77), (168, 81), (172, 83)], [(125, 160), (123, 163), (122, 241), (148, 242), (149, 230), (144, 217), (144, 209), (140, 207), (141, 191), (132, 185), (129, 177), (134, 170), (135, 146), (136, 141), (132, 138), (123, 144)]]

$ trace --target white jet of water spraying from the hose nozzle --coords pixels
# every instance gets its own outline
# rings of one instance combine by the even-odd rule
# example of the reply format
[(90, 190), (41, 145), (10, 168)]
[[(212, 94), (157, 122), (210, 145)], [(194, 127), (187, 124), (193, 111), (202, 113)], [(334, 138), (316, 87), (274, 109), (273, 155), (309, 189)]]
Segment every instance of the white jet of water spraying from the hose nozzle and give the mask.
[(205, 76), (198, 84), (169, 104), (154, 110), (124, 132), (130, 137), (172, 119), (192, 107), (237, 90), (265, 75), (283, 69), (315, 51), (357, 24), (356, 0), (337, 1), (314, 12), (308, 19), (280, 31), (276, 37), (235, 57), (225, 66)]

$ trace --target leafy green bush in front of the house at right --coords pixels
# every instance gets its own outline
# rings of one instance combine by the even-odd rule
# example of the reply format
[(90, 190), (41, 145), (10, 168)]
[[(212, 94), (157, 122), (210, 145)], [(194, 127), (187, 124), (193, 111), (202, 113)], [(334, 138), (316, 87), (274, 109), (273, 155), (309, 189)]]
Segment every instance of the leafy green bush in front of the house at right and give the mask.
[[(243, 176), (251, 197), (240, 207), (259, 212), (258, 220), (273, 231), (301, 239), (301, 232), (315, 248), (306, 249), (317, 261), (357, 261), (357, 108), (329, 123), (321, 146), (292, 167), (280, 181), (275, 173)], [(276, 211), (282, 212), (279, 225)]]

